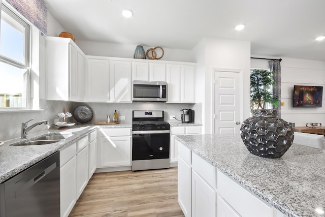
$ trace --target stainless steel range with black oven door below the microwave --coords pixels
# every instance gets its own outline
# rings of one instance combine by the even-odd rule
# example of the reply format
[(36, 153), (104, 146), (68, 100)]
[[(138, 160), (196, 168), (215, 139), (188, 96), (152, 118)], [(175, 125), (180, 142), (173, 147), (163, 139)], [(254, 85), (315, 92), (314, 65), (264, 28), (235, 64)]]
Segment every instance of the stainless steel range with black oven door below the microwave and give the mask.
[(132, 111), (132, 170), (170, 167), (170, 125), (164, 111)]

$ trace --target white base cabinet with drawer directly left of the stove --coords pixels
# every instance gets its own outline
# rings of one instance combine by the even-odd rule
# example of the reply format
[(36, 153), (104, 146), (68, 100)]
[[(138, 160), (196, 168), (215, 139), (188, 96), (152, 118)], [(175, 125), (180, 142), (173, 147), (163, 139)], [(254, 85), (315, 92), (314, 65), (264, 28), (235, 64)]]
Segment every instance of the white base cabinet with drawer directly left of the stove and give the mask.
[(131, 166), (131, 128), (100, 129), (98, 167)]

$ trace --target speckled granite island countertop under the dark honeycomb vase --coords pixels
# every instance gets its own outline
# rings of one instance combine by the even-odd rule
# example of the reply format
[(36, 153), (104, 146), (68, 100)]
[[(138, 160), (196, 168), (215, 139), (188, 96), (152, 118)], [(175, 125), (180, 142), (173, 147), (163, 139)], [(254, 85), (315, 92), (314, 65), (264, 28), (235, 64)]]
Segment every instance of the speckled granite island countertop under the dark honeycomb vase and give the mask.
[(293, 144), (279, 159), (249, 153), (240, 135), (176, 136), (210, 164), (287, 216), (325, 216), (325, 150)]

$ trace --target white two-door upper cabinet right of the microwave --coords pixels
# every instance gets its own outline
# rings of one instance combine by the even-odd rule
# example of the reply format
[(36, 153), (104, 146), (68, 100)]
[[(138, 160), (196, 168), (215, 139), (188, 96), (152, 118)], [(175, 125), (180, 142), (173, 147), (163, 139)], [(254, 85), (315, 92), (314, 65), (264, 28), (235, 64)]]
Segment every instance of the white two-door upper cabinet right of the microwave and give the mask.
[(167, 64), (168, 103), (194, 103), (194, 65)]

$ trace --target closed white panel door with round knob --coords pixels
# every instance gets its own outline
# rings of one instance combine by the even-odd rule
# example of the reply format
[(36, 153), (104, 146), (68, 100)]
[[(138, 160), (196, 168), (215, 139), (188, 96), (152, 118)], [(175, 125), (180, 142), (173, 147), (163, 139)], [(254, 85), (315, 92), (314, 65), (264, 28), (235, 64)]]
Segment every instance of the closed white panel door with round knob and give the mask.
[(214, 71), (214, 133), (239, 133), (240, 71)]

